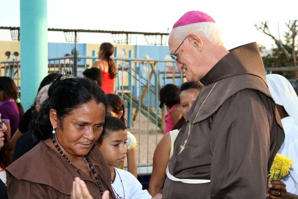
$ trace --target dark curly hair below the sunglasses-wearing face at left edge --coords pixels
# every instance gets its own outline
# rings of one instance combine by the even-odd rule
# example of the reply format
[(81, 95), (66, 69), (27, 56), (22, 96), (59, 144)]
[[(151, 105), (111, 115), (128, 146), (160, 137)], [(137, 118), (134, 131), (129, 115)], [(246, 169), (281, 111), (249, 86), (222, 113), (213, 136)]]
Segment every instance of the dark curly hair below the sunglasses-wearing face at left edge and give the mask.
[(0, 150), (0, 166), (5, 169), (11, 164), (11, 155), (13, 154), (13, 147), (11, 143), (7, 140), (7, 134), (4, 132), (4, 145)]

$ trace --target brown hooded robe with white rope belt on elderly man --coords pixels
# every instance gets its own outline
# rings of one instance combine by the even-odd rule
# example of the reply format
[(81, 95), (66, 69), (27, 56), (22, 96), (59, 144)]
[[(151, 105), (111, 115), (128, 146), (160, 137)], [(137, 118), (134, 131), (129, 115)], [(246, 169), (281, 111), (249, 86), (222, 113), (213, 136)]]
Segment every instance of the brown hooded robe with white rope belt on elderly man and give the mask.
[[(204, 87), (175, 140), (169, 172), (210, 183), (166, 178), (162, 198), (265, 199), (268, 171), (285, 135), (257, 44), (231, 50), (200, 81)], [(193, 129), (178, 155), (192, 114)]]

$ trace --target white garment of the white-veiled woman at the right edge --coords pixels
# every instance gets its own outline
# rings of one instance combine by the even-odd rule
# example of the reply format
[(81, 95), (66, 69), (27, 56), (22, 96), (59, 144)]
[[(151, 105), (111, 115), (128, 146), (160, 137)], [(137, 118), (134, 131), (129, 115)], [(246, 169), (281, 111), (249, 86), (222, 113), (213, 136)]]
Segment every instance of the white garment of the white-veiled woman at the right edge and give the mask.
[(280, 178), (286, 184), (287, 192), (298, 195), (298, 125), (291, 117), (281, 120), (285, 131), (285, 141), (277, 153), (289, 157), (294, 162), (289, 174)]

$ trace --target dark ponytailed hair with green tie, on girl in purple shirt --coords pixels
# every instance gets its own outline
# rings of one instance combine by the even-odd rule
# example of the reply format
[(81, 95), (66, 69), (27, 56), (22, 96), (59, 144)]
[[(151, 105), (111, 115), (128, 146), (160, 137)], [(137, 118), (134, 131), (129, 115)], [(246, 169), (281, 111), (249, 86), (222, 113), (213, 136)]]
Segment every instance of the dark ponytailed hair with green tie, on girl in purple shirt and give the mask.
[[(17, 86), (10, 77), (0, 77), (0, 90), (3, 90), (3, 100), (18, 99)], [(20, 118), (24, 115), (24, 109), (21, 102), (17, 103)]]

